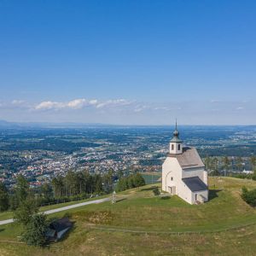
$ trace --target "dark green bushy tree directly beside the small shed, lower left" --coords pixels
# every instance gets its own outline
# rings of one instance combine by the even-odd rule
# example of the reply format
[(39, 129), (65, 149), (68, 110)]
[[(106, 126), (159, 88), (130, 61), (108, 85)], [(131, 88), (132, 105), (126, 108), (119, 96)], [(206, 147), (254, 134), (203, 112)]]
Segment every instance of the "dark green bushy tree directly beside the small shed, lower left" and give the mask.
[(33, 214), (22, 232), (21, 240), (28, 245), (43, 246), (46, 241), (47, 228), (46, 215), (44, 213)]

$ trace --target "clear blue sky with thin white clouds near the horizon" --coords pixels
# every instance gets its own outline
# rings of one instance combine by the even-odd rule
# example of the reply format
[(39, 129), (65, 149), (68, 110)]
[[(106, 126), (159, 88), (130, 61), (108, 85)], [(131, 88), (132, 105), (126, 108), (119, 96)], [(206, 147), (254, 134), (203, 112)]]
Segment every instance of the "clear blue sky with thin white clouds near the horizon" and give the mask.
[(256, 124), (255, 1), (0, 0), (0, 119)]

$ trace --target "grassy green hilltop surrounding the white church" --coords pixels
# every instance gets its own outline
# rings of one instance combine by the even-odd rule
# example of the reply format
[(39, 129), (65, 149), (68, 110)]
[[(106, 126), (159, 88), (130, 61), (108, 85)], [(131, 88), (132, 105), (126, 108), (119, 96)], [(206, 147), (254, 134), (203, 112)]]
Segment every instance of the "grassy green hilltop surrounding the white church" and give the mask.
[(256, 209), (241, 200), (241, 187), (256, 182), (211, 177), (210, 201), (190, 206), (177, 196), (155, 197), (154, 186), (118, 194), (111, 205), (79, 207), (68, 215), (73, 230), (50, 247), (27, 247), (18, 241), (17, 224), (0, 226), (0, 255), (253, 255), (256, 251)]

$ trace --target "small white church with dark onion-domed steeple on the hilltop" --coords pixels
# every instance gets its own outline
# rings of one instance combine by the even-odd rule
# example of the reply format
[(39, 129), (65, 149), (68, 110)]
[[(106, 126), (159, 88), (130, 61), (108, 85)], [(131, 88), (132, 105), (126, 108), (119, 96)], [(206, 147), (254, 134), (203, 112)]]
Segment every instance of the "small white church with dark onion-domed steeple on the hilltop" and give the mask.
[(173, 132), (169, 153), (162, 166), (162, 190), (189, 204), (208, 201), (208, 178), (197, 150), (184, 147), (179, 132)]

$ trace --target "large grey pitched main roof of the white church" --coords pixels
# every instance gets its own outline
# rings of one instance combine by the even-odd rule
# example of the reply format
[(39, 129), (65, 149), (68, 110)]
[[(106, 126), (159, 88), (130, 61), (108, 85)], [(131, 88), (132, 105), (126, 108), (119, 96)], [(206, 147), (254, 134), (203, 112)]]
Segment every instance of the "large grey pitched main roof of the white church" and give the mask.
[(182, 154), (169, 154), (171, 157), (176, 157), (179, 165), (183, 169), (204, 167), (200, 155), (197, 153), (196, 148), (183, 147)]

